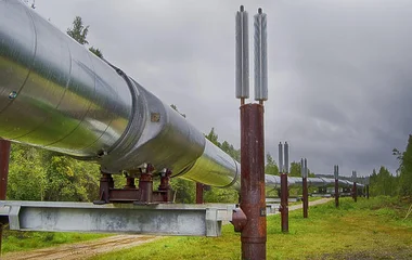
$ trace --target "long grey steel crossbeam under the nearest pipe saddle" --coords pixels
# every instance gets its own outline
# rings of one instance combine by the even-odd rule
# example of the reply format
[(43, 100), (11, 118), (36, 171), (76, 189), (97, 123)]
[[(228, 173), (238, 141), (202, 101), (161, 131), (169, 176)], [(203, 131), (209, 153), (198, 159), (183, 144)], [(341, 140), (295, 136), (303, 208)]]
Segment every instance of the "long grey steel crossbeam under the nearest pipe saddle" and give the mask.
[(234, 205), (0, 202), (11, 230), (220, 236)]

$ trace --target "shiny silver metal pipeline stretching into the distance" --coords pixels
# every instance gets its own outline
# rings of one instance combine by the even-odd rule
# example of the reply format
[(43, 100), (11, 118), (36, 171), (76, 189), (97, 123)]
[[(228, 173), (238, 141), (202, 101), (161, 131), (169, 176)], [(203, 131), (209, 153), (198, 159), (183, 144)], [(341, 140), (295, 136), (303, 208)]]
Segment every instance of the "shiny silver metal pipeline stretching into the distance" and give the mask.
[[(0, 0), (0, 138), (99, 164), (240, 190), (240, 164), (121, 69), (23, 2)], [(301, 185), (288, 178), (289, 185)], [(329, 185), (308, 178), (309, 185)], [(344, 185), (349, 185), (343, 181)], [(280, 187), (279, 177), (266, 185)]]

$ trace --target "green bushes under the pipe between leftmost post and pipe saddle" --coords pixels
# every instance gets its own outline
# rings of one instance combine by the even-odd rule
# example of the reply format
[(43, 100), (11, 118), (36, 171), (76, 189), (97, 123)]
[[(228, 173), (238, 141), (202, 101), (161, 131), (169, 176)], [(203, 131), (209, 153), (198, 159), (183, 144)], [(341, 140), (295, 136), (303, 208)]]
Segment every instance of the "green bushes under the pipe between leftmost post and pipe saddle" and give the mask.
[(99, 178), (98, 165), (12, 143), (8, 199), (91, 202)]

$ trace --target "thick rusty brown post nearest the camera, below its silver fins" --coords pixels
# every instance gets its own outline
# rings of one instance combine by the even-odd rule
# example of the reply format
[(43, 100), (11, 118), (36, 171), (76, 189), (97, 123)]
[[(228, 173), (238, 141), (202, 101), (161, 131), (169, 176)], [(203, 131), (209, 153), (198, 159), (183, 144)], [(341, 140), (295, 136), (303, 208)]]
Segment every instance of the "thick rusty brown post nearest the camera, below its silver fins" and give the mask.
[(263, 106), (241, 106), (242, 259), (266, 259)]

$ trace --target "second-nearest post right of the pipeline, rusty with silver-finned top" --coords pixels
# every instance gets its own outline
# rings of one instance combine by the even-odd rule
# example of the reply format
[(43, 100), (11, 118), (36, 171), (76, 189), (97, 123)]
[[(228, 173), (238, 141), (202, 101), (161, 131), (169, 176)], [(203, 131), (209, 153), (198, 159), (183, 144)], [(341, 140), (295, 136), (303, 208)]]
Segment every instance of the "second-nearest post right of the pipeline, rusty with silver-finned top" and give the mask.
[(281, 224), (282, 232), (289, 232), (289, 210), (288, 210), (288, 190), (287, 190), (287, 172), (288, 172), (288, 144), (284, 145), (284, 164), (283, 172), (281, 173)]

